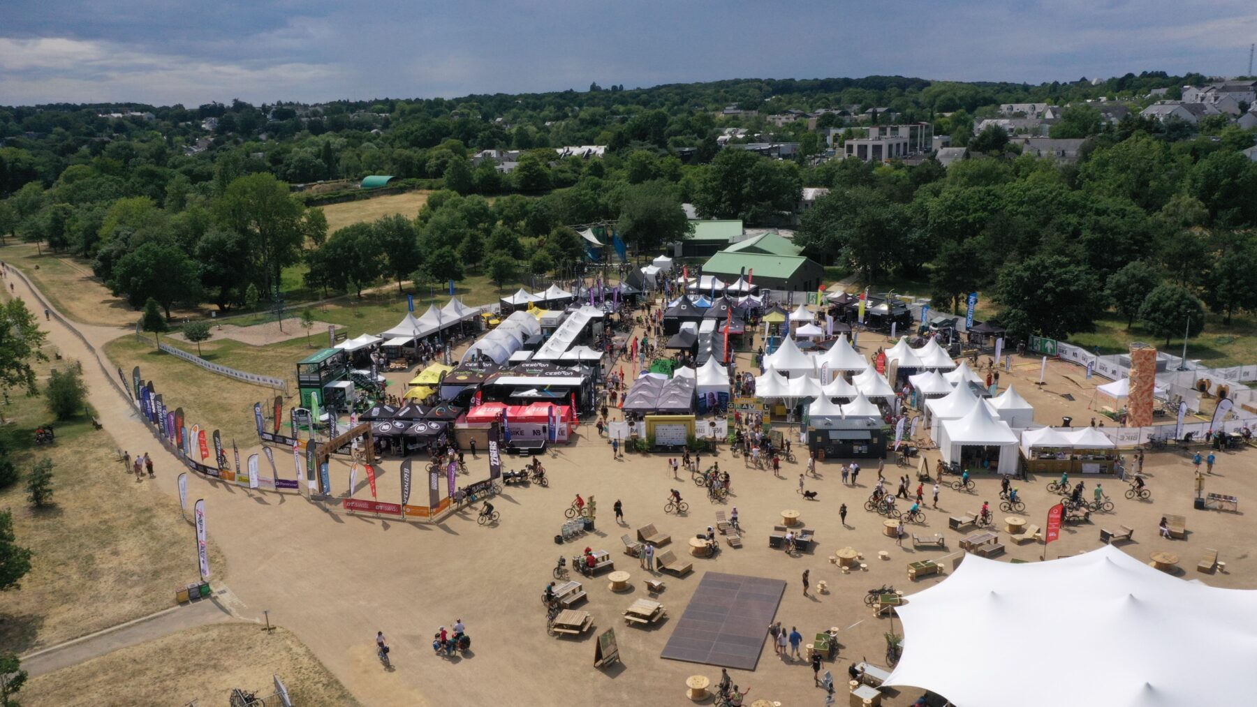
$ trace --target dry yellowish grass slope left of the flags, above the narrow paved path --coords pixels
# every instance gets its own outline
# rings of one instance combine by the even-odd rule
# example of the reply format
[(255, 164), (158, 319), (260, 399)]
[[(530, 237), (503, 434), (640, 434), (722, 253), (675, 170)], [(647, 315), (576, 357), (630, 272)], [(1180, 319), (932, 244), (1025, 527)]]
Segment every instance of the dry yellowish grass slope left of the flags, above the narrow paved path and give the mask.
[[(0, 490), (19, 544), (35, 551), (21, 589), (0, 604), (0, 647), (25, 653), (170, 607), (171, 588), (197, 576), (192, 526), (177, 502), (150, 481), (137, 483), (85, 417), (57, 423), (57, 442), (35, 448), (35, 427), (53, 416), (43, 397), (10, 397), (0, 440), (23, 472), (53, 460), (54, 506), (34, 510), (24, 481)], [(222, 573), (212, 545), (211, 563)]]

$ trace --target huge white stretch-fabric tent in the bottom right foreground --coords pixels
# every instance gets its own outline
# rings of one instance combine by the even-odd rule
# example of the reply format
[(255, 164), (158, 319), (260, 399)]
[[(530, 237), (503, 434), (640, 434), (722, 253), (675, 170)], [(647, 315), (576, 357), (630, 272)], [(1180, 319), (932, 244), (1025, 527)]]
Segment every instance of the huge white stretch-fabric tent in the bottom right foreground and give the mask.
[[(1087, 653), (1104, 664), (1081, 668), (1079, 658), (1031, 661), (1024, 652), (991, 650), (982, 671), (957, 650), (957, 637), (977, 645), (1018, 634), (1061, 634), (1060, 612), (1087, 627)], [(904, 620), (904, 654), (889, 686), (930, 689), (964, 707), (1057, 707), (1062, 669), (1079, 703), (1106, 707), (1249, 704), (1257, 661), (1257, 591), (1184, 581), (1106, 545), (1047, 563), (1009, 564), (965, 555), (943, 581), (895, 608)], [(1207, 679), (1184, 650), (1208, 647)], [(1072, 668), (1072, 669), (1071, 669)], [(1202, 689), (1208, 697), (1202, 696)], [(1071, 699), (1066, 699), (1071, 702)]]

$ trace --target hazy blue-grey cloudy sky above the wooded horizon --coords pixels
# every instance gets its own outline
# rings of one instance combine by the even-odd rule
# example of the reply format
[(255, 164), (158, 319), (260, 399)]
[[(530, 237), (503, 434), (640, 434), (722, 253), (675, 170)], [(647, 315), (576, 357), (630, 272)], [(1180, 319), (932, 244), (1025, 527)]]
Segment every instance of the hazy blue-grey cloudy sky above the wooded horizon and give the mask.
[(0, 0), (0, 104), (1234, 75), (1254, 0)]

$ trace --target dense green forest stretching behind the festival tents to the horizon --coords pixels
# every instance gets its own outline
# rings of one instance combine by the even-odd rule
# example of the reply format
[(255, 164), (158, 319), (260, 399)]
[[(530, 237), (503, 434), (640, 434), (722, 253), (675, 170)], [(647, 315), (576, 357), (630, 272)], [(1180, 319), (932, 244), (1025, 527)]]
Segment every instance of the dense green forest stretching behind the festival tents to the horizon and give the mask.
[[(546, 274), (583, 257), (568, 227), (579, 224), (615, 224), (650, 251), (685, 237), (683, 202), (706, 217), (789, 225), (799, 190), (821, 186), (832, 191), (797, 235), (821, 262), (867, 281), (928, 281), (939, 305), (993, 293), (1022, 334), (1085, 332), (1115, 308), (1168, 337), (1172, 320), (1182, 332), (1197, 316), (1198, 298), (1228, 318), (1257, 308), (1257, 163), (1241, 154), (1253, 133), (1138, 117), (1151, 89), (1203, 80), (867, 77), (321, 105), (0, 108), (0, 234), (91, 259), (137, 306), (152, 298), (167, 309), (230, 309), (269, 299), (297, 264), (310, 290), (348, 293), (475, 269), (498, 281)], [(1136, 111), (1102, 124), (1085, 104), (1097, 97)], [(1077, 163), (1021, 156), (998, 129), (973, 134), (998, 104), (1024, 102), (1075, 104), (1053, 137), (1089, 138)], [(729, 105), (758, 114), (722, 116)], [(825, 112), (815, 127), (766, 122), (792, 108)], [(123, 117), (102, 117), (111, 113)], [(817, 131), (855, 136), (891, 121), (933, 122), (935, 134), (983, 156), (949, 168), (825, 161)], [(797, 142), (798, 157), (722, 148), (729, 127), (747, 128), (743, 142)], [(553, 149), (588, 144), (607, 146), (606, 157)], [(494, 159), (473, 161), (484, 149), (523, 152), (504, 175)], [(414, 219), (328, 234), (309, 195), (288, 186), (366, 175), (445, 191)]]

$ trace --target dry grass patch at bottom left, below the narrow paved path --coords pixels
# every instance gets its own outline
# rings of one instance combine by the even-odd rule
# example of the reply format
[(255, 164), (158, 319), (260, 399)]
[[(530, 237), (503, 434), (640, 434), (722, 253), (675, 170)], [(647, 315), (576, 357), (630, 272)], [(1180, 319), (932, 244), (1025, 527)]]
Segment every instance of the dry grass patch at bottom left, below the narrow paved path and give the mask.
[(197, 627), (121, 648), (33, 678), (18, 697), (26, 706), (59, 707), (226, 704), (235, 687), (270, 696), (273, 674), (284, 681), (294, 704), (358, 704), (292, 633), (240, 623)]

